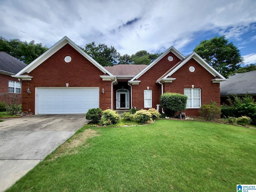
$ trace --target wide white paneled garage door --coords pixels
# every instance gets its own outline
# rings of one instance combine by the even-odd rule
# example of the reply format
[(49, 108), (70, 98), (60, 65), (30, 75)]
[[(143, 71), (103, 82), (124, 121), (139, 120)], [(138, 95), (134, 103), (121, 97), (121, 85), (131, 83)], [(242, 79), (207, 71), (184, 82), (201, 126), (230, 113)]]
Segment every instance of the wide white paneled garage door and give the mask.
[(37, 88), (38, 114), (84, 114), (99, 107), (99, 88)]

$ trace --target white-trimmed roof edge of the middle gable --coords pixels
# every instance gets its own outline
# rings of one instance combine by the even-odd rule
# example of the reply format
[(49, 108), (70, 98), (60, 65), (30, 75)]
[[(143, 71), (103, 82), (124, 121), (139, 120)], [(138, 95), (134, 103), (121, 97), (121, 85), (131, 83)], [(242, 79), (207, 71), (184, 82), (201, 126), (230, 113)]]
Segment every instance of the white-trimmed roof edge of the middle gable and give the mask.
[(142, 70), (140, 73), (138, 73), (132, 80), (130, 81), (136, 81), (140, 76), (142, 76), (145, 72), (147, 72), (150, 68), (152, 68), (158, 61), (160, 61), (164, 56), (166, 56), (168, 53), (172, 52), (175, 56), (177, 56), (180, 60), (183, 60), (185, 57), (176, 50), (173, 46), (168, 48), (162, 55), (160, 55), (156, 60), (154, 60), (151, 64), (149, 64), (144, 70)]

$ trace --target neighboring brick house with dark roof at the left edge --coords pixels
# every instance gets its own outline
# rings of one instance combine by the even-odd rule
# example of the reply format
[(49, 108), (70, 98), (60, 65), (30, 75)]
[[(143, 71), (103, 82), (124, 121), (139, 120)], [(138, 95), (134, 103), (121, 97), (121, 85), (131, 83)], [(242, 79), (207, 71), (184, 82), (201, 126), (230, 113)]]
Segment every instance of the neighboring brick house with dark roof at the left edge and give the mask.
[(0, 52), (0, 102), (4, 101), (3, 93), (21, 93), (21, 82), (12, 75), (26, 66), (25, 63), (6, 52)]

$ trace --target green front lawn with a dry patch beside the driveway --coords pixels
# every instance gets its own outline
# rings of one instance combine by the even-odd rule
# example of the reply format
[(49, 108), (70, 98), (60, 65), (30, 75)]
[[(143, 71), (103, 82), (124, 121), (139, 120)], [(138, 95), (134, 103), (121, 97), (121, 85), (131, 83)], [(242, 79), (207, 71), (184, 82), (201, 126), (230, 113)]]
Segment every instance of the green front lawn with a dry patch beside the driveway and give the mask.
[(251, 128), (178, 120), (85, 126), (7, 191), (231, 192), (256, 184), (255, 159)]

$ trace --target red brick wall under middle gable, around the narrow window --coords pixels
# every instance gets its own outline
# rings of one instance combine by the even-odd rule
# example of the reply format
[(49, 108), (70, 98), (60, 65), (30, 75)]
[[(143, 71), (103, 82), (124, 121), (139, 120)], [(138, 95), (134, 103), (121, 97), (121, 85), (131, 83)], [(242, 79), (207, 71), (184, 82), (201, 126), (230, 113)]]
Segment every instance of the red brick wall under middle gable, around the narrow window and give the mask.
[[(172, 56), (174, 60), (172, 62), (168, 61), (168, 56)], [(149, 89), (152, 90), (152, 108), (156, 109), (156, 105), (160, 104), (161, 96), (161, 86), (160, 84), (156, 84), (156, 80), (179, 61), (180, 59), (170, 52), (138, 78), (141, 81), (140, 84), (132, 85), (132, 107), (136, 107), (137, 109), (144, 108), (144, 90), (149, 86)]]

